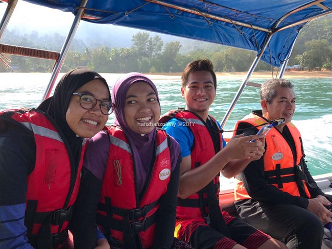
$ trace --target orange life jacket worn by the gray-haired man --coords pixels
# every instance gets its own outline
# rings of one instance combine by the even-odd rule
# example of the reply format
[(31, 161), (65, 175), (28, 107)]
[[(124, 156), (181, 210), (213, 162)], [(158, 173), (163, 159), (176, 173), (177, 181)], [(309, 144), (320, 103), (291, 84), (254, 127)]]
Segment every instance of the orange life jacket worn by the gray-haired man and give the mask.
[[(266, 120), (258, 115), (249, 114), (235, 124), (234, 130), (238, 129), (241, 122), (257, 126), (266, 123)], [(310, 193), (306, 186), (307, 179), (302, 167), (303, 147), (301, 134), (293, 123), (289, 122), (286, 126), (291, 132), (295, 143), (296, 161), (294, 161), (291, 147), (286, 139), (276, 128), (272, 128), (265, 137), (267, 144), (264, 153), (265, 179), (273, 186), (294, 196), (300, 196), (299, 188), (303, 188), (307, 197), (310, 198)], [(297, 178), (298, 181), (296, 181)], [(251, 198), (239, 176), (235, 177), (235, 184), (235, 201)]]

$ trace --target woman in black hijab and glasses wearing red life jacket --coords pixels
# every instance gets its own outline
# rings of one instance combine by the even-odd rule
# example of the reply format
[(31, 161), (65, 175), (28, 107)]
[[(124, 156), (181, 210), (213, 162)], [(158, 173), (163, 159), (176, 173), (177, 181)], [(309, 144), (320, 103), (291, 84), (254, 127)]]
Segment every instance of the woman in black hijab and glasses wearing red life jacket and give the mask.
[(74, 69), (37, 109), (0, 112), (0, 248), (68, 248), (88, 138), (112, 112), (107, 82)]

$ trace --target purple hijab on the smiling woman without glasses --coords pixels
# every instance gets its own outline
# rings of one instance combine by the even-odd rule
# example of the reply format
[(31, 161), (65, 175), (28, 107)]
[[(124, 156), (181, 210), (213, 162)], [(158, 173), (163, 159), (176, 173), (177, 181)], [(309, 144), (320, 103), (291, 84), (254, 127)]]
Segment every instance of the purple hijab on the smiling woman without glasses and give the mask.
[(149, 167), (151, 165), (154, 142), (156, 138), (156, 129), (152, 132), (141, 136), (140, 134), (132, 131), (125, 118), (125, 101), (129, 87), (136, 82), (148, 83), (157, 95), (157, 101), (160, 106), (158, 91), (153, 82), (147, 78), (144, 74), (138, 72), (130, 72), (122, 76), (117, 80), (112, 89), (112, 99), (116, 108), (114, 109), (115, 124), (121, 127), (124, 131), (129, 144), (131, 146), (131, 153), (135, 162), (136, 180), (138, 191), (140, 192), (149, 173)]

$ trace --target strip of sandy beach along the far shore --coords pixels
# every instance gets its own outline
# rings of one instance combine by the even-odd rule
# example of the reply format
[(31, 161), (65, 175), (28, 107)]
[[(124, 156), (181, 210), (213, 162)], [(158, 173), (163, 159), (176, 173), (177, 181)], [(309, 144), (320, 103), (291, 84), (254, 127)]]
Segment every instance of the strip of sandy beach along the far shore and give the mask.
[[(279, 72), (278, 72), (279, 73)], [(170, 73), (146, 73), (151, 79), (181, 79), (181, 72)], [(216, 72), (219, 79), (240, 79), (246, 77), (247, 72)], [(276, 78), (276, 72), (273, 72), (273, 77)], [(294, 78), (328, 78), (332, 77), (332, 71), (287, 71), (284, 73), (284, 79)], [(271, 71), (253, 72), (250, 79), (272, 79)]]

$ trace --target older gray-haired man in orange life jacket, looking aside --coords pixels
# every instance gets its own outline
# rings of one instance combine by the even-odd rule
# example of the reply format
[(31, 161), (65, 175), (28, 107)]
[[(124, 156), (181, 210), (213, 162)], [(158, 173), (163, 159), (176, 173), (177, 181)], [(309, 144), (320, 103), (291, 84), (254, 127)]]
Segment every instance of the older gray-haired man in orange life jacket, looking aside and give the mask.
[(296, 100), (293, 84), (269, 80), (259, 93), (262, 110), (238, 121), (235, 134), (256, 134), (278, 118), (284, 122), (266, 134), (263, 157), (235, 177), (236, 209), (244, 221), (288, 248), (320, 249), (323, 223), (332, 217), (326, 208), (332, 196), (317, 186), (304, 160), (301, 134), (291, 122)]

